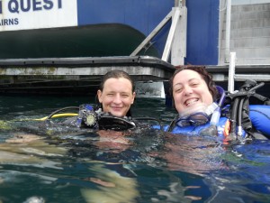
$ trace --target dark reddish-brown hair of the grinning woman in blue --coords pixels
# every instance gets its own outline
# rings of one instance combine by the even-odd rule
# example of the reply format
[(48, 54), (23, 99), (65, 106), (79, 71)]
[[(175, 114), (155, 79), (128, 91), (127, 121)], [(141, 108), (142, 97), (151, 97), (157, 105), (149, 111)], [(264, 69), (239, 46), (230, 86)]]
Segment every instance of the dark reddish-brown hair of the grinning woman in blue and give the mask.
[(218, 90), (215, 86), (214, 81), (212, 80), (211, 74), (209, 72), (207, 72), (207, 70), (205, 69), (204, 66), (176, 66), (175, 68), (176, 68), (176, 70), (174, 72), (174, 75), (169, 80), (170, 94), (172, 97), (173, 97), (173, 81), (174, 81), (175, 75), (184, 69), (191, 69), (191, 70), (199, 73), (200, 76), (202, 77), (202, 79), (205, 81), (205, 83), (206, 83), (206, 85), (211, 93), (211, 97), (212, 97), (213, 101), (215, 101), (217, 99)]

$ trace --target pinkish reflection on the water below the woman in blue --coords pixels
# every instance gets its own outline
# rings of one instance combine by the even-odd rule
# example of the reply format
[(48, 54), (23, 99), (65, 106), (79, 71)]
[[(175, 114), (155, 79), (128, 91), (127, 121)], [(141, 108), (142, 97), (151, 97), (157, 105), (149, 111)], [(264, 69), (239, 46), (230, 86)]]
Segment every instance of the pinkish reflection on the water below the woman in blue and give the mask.
[(215, 136), (164, 134), (163, 139), (162, 151), (152, 153), (152, 156), (164, 160), (168, 170), (202, 175), (227, 169), (221, 159), (226, 150)]

